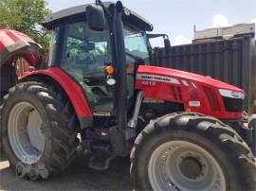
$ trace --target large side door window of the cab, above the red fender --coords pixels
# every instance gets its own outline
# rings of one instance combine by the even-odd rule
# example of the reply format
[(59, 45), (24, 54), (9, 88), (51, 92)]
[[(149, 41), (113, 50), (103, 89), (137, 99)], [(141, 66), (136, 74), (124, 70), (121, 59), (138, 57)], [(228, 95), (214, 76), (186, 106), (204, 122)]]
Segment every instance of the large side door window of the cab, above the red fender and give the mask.
[(108, 30), (90, 30), (85, 22), (66, 24), (62, 68), (81, 85), (93, 111), (113, 109), (105, 64), (112, 61)]

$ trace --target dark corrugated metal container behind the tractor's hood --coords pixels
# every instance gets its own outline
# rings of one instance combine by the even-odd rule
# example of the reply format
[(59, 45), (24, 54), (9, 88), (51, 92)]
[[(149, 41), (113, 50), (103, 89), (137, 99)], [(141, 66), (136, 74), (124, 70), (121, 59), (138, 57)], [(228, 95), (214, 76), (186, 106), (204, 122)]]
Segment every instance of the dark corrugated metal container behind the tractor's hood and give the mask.
[(165, 48), (155, 48), (153, 62), (157, 66), (210, 76), (240, 87), (247, 94), (245, 111), (256, 113), (256, 45), (250, 35), (176, 45), (169, 53)]

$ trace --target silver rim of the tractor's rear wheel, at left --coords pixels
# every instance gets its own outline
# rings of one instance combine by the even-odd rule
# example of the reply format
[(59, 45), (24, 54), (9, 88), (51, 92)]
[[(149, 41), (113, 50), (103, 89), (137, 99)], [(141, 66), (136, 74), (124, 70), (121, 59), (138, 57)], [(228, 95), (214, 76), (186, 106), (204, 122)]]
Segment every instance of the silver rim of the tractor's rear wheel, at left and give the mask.
[(46, 146), (43, 119), (28, 102), (16, 104), (9, 113), (9, 144), (16, 157), (25, 164), (37, 163)]

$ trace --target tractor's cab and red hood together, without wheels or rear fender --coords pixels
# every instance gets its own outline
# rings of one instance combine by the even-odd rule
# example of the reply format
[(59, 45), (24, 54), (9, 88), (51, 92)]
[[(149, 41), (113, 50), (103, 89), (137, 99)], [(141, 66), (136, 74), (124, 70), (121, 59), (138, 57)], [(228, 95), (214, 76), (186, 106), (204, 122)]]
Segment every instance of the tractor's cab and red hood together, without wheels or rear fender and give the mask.
[(119, 1), (60, 10), (46, 18), (45, 26), (52, 31), (49, 66), (61, 68), (79, 84), (86, 99), (78, 103), (81, 108), (87, 105), (91, 113), (80, 118), (82, 129), (115, 125), (121, 132), (128, 130), (124, 136), (130, 139), (138, 119), (145, 125), (167, 113), (243, 117), (243, 90), (216, 79), (152, 66), (149, 39), (163, 37), (169, 52), (168, 36), (147, 33), (153, 26)]

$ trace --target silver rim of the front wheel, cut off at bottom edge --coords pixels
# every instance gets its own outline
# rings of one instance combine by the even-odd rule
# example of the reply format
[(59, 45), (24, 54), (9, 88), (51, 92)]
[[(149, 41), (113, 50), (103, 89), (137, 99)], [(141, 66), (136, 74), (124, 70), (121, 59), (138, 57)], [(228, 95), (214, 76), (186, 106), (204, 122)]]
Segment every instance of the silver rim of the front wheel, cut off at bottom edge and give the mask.
[(148, 165), (154, 190), (226, 190), (224, 172), (210, 153), (187, 141), (155, 149)]

